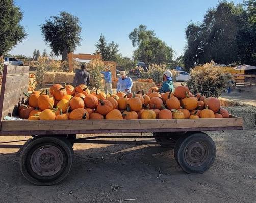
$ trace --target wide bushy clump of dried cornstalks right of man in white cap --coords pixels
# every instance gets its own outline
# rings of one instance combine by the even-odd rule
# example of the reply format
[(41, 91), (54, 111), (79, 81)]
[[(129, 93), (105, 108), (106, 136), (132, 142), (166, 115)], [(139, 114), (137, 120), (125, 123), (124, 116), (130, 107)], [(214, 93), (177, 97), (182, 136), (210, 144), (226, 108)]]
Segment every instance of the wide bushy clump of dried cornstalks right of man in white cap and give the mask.
[(202, 93), (206, 97), (219, 97), (221, 91), (225, 91), (232, 76), (225, 73), (221, 67), (215, 67), (214, 62), (206, 63), (199, 69), (191, 69), (191, 78), (187, 85), (191, 93)]

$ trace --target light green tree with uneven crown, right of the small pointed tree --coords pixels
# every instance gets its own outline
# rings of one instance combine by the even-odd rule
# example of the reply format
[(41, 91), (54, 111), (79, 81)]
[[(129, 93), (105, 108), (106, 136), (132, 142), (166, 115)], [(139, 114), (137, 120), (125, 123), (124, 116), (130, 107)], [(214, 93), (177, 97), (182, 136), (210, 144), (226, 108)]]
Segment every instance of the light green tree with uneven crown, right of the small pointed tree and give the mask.
[(155, 31), (147, 30), (145, 25), (135, 28), (129, 39), (137, 49), (133, 53), (135, 60), (145, 63), (164, 64), (172, 61), (173, 50), (166, 43), (156, 37)]

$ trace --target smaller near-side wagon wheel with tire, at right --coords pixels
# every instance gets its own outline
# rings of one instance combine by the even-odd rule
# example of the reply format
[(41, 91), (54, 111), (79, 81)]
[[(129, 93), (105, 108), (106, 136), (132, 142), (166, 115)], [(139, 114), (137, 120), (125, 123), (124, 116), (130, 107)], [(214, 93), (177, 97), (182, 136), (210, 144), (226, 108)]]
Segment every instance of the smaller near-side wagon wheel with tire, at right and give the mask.
[(203, 132), (188, 133), (178, 139), (174, 157), (183, 171), (202, 174), (212, 166), (216, 157), (216, 146)]

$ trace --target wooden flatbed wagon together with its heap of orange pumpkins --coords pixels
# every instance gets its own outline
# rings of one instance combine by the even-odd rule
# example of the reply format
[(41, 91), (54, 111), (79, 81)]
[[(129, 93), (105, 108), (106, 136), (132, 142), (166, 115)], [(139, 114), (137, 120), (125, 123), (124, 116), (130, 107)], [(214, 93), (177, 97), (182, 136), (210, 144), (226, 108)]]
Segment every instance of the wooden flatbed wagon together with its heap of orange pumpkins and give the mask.
[[(31, 135), (32, 139), (26, 140), (27, 142), (24, 145), (0, 144), (0, 148), (20, 148), (21, 173), (28, 181), (36, 185), (53, 185), (68, 176), (74, 159), (72, 148), (74, 143), (159, 144), (174, 149), (175, 160), (183, 171), (189, 174), (202, 174), (211, 167), (216, 156), (214, 141), (202, 131), (243, 129), (242, 118), (232, 115), (229, 115), (229, 118), (214, 118), (212, 116), (213, 110), (216, 111), (216, 108), (219, 107), (219, 102), (216, 99), (206, 100), (206, 107), (213, 109), (206, 108), (202, 110), (204, 111), (203, 117), (206, 118), (183, 119), (183, 112), (178, 110), (180, 105), (171, 105), (175, 109), (166, 111), (166, 106), (164, 106), (165, 104), (161, 98), (153, 99), (151, 103), (149, 101), (149, 105), (145, 107), (148, 98), (162, 97), (157, 92), (157, 88), (144, 92), (144, 95), (143, 92), (125, 95), (124, 97), (119, 94), (119, 98), (118, 95), (113, 94), (106, 95), (105, 99), (104, 94), (91, 93), (86, 86), (75, 88), (75, 93), (79, 92), (80, 95), (83, 94), (85, 97), (82, 97), (82, 95), (81, 97), (72, 97), (71, 95), (67, 97), (67, 92), (72, 94), (72, 91), (70, 91), (72, 88), (69, 86), (67, 91), (65, 87), (55, 85), (50, 91), (53, 92), (56, 98), (61, 99), (61, 102), (57, 102), (54, 96), (49, 93), (50, 91), (45, 91), (39, 96), (33, 96), (33, 104), (34, 99), (38, 98), (38, 106), (42, 108), (41, 113), (40, 110), (35, 113), (33, 120), (11, 120), (10, 117), (6, 116), (18, 116), (18, 112), (21, 112), (22, 117), (27, 117), (34, 110), (34, 107), (28, 107), (28, 105), (20, 106), (21, 103), (29, 103), (30, 98), (32, 98), (30, 96), (27, 101), (23, 94), (28, 90), (28, 77), (29, 67), (23, 66), (17, 69), (16, 66), (4, 66), (0, 94), (0, 114), (2, 118), (0, 134), (1, 136)], [(14, 85), (10, 81), (15, 81), (16, 84)], [(194, 108), (195, 99), (197, 98), (193, 95), (189, 95), (192, 99), (188, 98), (184, 94), (186, 87), (178, 89), (180, 92), (170, 93), (168, 95), (170, 98), (168, 97), (166, 102), (169, 99), (176, 100), (172, 98), (178, 95), (180, 98), (178, 101), (181, 104), (184, 99), (185, 106), (189, 109)], [(33, 92), (33, 94), (40, 94), (40, 92)], [(115, 100), (108, 99), (108, 97), (118, 101), (121, 99), (121, 101), (116, 103)], [(66, 98), (69, 98), (69, 100)], [(123, 107), (125, 108), (126, 102), (130, 107), (125, 112), (126, 115), (122, 115), (125, 111)], [(193, 105), (190, 105), (190, 102)], [(66, 108), (69, 103), (70, 107)], [(118, 104), (118, 107), (116, 104)], [(122, 106), (122, 109), (119, 109), (119, 105)], [(159, 109), (155, 109), (156, 107)], [(132, 111), (138, 112), (138, 118), (141, 117), (142, 119), (136, 119), (137, 116)], [(94, 120), (90, 120), (90, 114), (93, 114), (92, 118)], [(222, 110), (222, 114), (228, 117), (226, 111)], [(63, 120), (54, 120), (56, 115), (57, 118)], [(157, 118), (157, 115), (160, 115), (160, 119)], [(176, 119), (173, 119), (173, 115)], [(124, 119), (124, 116), (135, 119)], [(67, 120), (68, 117), (70, 120)], [(152, 136), (120, 134), (135, 132), (151, 132)], [(118, 135), (109, 133), (118, 133)], [(77, 134), (84, 134), (84, 136), (76, 138)], [(95, 134), (95, 136), (88, 137), (86, 134)], [(99, 134), (105, 135), (100, 136)], [(108, 140), (108, 138), (117, 140)], [(122, 138), (132, 140), (124, 141)], [(136, 141), (137, 138), (155, 138), (156, 142)], [(44, 166), (45, 162), (48, 163), (47, 168)]]

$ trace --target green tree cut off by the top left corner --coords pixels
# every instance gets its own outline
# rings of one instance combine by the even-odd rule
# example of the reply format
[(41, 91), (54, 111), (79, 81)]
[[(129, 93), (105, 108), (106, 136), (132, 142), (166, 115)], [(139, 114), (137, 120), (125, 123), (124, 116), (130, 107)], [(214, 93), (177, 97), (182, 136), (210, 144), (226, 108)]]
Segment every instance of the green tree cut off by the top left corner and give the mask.
[(22, 42), (26, 33), (20, 24), (23, 14), (13, 0), (0, 1), (0, 56), (10, 51), (18, 42)]

